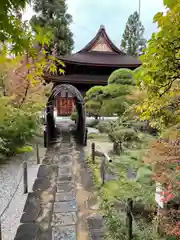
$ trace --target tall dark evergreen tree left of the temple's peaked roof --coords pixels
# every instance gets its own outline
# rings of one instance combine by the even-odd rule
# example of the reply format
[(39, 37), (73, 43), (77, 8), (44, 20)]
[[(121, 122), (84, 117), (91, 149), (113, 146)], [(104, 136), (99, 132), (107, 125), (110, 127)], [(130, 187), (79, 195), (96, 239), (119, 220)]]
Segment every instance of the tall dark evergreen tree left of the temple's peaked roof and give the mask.
[(36, 12), (31, 19), (32, 25), (48, 28), (52, 32), (52, 43), (58, 55), (66, 55), (73, 49), (73, 34), (69, 29), (72, 17), (67, 13), (66, 0), (34, 0)]

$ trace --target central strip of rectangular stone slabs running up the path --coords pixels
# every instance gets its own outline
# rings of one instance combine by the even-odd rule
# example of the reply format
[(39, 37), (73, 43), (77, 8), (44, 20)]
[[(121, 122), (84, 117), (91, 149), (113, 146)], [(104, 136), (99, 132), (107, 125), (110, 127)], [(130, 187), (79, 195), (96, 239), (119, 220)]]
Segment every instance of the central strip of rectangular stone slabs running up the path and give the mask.
[(76, 239), (77, 204), (72, 173), (72, 147), (70, 135), (65, 136), (59, 152), (57, 191), (52, 222), (53, 240)]

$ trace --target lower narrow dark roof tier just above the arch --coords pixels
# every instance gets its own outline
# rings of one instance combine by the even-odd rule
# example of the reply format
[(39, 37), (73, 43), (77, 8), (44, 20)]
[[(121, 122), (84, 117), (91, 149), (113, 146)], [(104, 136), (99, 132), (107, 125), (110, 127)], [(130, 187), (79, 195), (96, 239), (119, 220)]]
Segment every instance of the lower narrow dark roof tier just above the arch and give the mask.
[(83, 83), (83, 84), (107, 84), (109, 76), (101, 75), (81, 75), (81, 74), (67, 74), (64, 76), (46, 76), (45, 80), (61, 83)]

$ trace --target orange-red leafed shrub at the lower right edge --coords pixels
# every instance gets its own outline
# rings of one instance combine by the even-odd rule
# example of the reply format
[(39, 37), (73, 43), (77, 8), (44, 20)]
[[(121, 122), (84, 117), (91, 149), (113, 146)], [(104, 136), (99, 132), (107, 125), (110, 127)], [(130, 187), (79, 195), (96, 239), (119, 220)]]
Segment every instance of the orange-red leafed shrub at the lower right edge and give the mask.
[(153, 166), (153, 180), (162, 186), (161, 200), (166, 205), (161, 211), (160, 225), (167, 235), (179, 236), (180, 192), (180, 131), (175, 126), (155, 140), (147, 154), (146, 162)]

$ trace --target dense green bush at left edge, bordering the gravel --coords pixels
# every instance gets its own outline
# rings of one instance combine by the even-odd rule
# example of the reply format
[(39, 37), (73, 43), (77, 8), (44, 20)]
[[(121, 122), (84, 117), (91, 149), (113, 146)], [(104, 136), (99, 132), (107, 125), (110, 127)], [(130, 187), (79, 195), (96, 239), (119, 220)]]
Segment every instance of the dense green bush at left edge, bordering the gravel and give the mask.
[[(40, 126), (37, 112), (14, 106), (3, 108), (0, 118), (0, 154), (11, 156), (36, 135)], [(31, 109), (32, 110), (32, 109)]]

